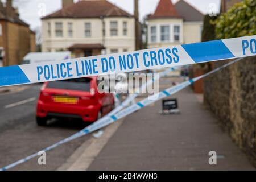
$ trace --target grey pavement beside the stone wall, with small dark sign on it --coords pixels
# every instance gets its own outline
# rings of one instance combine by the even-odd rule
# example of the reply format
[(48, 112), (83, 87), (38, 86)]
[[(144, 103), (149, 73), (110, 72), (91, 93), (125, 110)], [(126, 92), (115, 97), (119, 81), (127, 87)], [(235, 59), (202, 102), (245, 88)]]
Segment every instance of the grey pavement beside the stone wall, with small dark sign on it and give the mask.
[[(110, 136), (96, 139), (98, 143), (105, 140), (96, 155), (91, 154), (97, 145), (82, 145), (76, 158), (59, 169), (255, 170), (203, 106), (201, 95), (187, 88), (172, 98), (178, 99), (180, 114), (159, 114), (158, 101), (127, 116)], [(209, 164), (209, 151), (217, 152), (217, 165)]]

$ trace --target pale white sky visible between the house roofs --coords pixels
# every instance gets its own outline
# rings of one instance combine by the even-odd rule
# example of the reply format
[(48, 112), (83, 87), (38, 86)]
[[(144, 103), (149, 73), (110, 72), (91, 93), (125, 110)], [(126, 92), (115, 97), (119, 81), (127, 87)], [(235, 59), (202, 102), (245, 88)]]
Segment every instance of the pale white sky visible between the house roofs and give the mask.
[[(0, 0), (1, 1), (1, 0)], [(5, 2), (4, 0), (2, 0)], [(75, 2), (78, 0), (75, 0)], [(133, 14), (134, 0), (109, 0), (115, 5)], [(173, 3), (178, 0), (172, 0)], [(220, 0), (185, 0), (195, 6), (202, 13), (207, 14), (211, 3), (220, 7)], [(139, 0), (140, 19), (147, 14), (154, 13), (159, 0)], [(40, 28), (40, 17), (48, 15), (53, 11), (61, 9), (61, 0), (13, 0), (14, 7), (18, 7), (20, 18), (30, 24), (30, 28), (35, 30)]]

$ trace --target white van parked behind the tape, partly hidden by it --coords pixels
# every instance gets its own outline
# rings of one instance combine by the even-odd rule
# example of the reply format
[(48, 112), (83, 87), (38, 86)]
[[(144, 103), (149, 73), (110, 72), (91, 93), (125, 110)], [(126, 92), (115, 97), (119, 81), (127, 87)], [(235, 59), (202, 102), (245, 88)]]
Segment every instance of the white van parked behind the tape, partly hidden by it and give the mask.
[(70, 59), (71, 52), (30, 52), (23, 57), (22, 64), (42, 63), (49, 61), (57, 61)]

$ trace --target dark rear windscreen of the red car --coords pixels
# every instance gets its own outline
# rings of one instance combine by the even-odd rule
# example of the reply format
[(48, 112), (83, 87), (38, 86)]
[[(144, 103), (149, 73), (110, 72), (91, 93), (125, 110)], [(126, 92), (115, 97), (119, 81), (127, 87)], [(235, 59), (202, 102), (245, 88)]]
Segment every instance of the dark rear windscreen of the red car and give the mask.
[(47, 88), (90, 92), (90, 78), (76, 78), (48, 82)]

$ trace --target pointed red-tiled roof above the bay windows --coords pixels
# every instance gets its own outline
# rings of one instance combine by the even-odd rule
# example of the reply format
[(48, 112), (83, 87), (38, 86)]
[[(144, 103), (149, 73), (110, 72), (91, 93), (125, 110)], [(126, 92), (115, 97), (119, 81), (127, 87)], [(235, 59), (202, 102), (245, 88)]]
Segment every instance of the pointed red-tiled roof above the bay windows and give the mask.
[(181, 18), (181, 15), (171, 0), (160, 0), (154, 14), (148, 16), (148, 18)]

